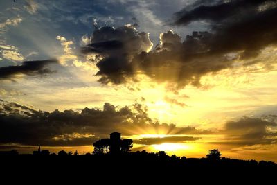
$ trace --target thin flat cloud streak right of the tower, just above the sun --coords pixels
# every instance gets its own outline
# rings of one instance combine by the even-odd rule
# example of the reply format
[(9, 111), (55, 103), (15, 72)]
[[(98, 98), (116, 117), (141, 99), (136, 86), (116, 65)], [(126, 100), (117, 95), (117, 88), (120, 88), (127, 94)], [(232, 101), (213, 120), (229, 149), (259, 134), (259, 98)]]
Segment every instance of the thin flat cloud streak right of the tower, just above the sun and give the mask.
[(159, 145), (162, 143), (185, 143), (186, 141), (196, 141), (198, 137), (193, 136), (167, 136), (167, 137), (150, 137), (134, 140), (134, 143), (143, 145)]

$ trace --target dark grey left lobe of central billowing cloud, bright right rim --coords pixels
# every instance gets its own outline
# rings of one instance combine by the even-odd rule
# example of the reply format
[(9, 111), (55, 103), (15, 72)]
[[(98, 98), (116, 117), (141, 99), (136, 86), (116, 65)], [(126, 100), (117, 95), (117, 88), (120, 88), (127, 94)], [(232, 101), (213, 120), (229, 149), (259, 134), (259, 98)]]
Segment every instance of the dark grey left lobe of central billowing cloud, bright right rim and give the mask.
[(96, 64), (99, 69), (96, 76), (101, 76), (100, 82), (119, 84), (134, 76), (136, 70), (131, 64), (134, 55), (148, 52), (152, 46), (148, 33), (139, 32), (134, 26), (105, 26), (94, 31), (91, 43), (82, 52), (102, 57)]

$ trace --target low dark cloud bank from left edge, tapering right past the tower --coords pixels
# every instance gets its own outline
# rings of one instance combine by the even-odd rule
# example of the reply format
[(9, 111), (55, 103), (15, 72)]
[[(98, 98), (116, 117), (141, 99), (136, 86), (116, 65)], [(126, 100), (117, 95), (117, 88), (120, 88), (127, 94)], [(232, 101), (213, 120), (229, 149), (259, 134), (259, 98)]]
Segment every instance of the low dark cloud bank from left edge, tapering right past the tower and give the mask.
[(93, 141), (105, 138), (114, 131), (125, 136), (145, 132), (211, 133), (194, 127), (176, 127), (174, 124), (152, 121), (147, 109), (139, 104), (133, 105), (132, 109), (123, 107), (116, 110), (114, 105), (105, 103), (102, 110), (84, 108), (81, 112), (44, 112), (17, 103), (0, 103), (1, 145), (83, 146), (91, 145)]

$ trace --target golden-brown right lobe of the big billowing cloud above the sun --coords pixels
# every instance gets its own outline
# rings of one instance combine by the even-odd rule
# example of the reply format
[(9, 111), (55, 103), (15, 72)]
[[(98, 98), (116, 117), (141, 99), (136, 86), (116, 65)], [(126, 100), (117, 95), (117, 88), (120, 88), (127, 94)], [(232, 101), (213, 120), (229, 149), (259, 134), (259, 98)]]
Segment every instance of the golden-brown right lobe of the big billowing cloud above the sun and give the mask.
[(161, 35), (161, 43), (154, 51), (136, 55), (132, 64), (156, 82), (170, 82), (177, 87), (199, 86), (202, 76), (233, 64), (224, 55), (210, 53), (212, 37), (208, 32), (194, 32), (180, 42), (176, 33), (168, 31)]

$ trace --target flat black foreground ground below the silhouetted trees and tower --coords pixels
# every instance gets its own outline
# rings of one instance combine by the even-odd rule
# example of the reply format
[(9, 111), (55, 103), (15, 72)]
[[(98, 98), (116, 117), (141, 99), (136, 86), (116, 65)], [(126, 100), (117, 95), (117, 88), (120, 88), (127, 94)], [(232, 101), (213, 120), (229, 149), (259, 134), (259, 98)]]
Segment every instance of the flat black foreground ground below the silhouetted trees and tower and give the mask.
[(100, 179), (102, 182), (114, 180), (121, 184), (131, 179), (134, 182), (141, 182), (139, 180), (141, 178), (157, 182), (163, 182), (163, 180), (207, 181), (207, 184), (213, 181), (220, 182), (220, 179), (228, 184), (229, 182), (260, 180), (276, 182), (277, 174), (277, 164), (271, 161), (257, 162), (227, 158), (180, 159), (175, 156), (158, 156), (148, 153), (129, 153), (118, 156), (6, 155), (0, 156), (0, 163), (2, 177), (13, 175), (22, 180), (26, 177), (27, 179), (42, 177), (45, 180), (75, 178), (90, 182)]

